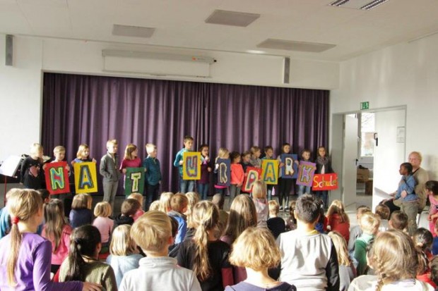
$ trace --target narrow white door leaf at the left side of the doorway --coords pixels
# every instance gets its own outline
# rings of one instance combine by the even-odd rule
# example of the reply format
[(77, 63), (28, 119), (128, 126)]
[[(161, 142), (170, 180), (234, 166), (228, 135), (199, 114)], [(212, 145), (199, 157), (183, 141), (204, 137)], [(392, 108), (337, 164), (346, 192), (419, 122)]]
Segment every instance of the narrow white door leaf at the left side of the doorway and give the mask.
[(345, 116), (342, 166), (342, 200), (345, 207), (356, 202), (357, 139), (357, 118)]

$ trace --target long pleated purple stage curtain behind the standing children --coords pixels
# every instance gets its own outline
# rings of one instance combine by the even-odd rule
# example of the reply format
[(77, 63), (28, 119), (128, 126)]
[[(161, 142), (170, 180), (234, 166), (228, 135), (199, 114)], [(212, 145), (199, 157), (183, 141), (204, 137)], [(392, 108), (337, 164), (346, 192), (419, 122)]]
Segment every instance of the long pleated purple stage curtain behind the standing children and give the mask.
[(219, 147), (242, 152), (271, 145), (280, 154), (284, 142), (292, 153), (309, 148), (316, 157), (316, 148), (327, 146), (328, 129), (327, 90), (44, 74), (45, 154), (64, 145), (71, 161), (85, 143), (99, 164), (109, 139), (119, 142), (120, 161), (126, 144), (136, 144), (143, 159), (151, 142), (158, 147), (162, 191), (178, 190), (173, 161), (184, 135), (194, 137), (194, 150), (209, 144), (212, 159)]

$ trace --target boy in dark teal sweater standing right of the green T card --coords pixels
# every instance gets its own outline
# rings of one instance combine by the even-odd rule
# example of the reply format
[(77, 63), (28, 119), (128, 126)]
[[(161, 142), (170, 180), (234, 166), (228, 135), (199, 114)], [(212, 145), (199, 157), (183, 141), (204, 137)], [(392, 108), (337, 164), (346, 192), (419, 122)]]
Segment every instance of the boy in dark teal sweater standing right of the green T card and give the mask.
[(143, 167), (146, 171), (146, 210), (150, 204), (158, 199), (161, 182), (160, 160), (157, 159), (157, 147), (155, 144), (146, 144), (148, 156), (143, 160)]

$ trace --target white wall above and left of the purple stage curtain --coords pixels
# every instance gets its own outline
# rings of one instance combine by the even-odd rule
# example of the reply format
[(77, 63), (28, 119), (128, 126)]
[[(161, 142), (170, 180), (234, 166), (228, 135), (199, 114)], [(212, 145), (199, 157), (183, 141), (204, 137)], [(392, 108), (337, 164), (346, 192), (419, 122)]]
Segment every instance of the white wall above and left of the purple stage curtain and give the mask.
[[(4, 66), (5, 36), (0, 34), (0, 161), (28, 152), (40, 140), (42, 71), (88, 75), (154, 78), (149, 75), (103, 72), (102, 49), (144, 50), (140, 46), (66, 39), (15, 37), (15, 66)], [(160, 52), (173, 52), (160, 49)], [(185, 51), (187, 53), (187, 51)], [(179, 53), (182, 53), (179, 51)], [(338, 87), (339, 64), (323, 61), (290, 61), (290, 84), (283, 85), (283, 58), (219, 51), (190, 51), (212, 56), (211, 78), (172, 78), (196, 82), (333, 89)], [(157, 78), (157, 77), (155, 77)], [(49, 150), (46, 149), (46, 154)]]

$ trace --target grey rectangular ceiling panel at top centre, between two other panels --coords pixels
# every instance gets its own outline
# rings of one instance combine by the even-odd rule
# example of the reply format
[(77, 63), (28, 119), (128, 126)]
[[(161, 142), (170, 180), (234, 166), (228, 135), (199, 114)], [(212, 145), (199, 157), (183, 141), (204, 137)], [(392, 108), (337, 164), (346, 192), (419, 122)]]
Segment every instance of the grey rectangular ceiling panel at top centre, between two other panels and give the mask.
[(206, 23), (247, 27), (260, 17), (260, 14), (237, 11), (215, 10)]

